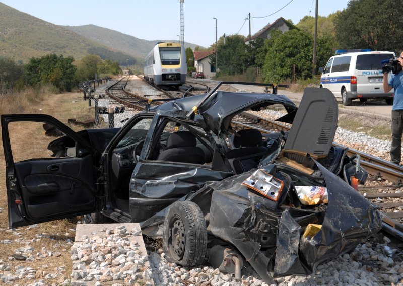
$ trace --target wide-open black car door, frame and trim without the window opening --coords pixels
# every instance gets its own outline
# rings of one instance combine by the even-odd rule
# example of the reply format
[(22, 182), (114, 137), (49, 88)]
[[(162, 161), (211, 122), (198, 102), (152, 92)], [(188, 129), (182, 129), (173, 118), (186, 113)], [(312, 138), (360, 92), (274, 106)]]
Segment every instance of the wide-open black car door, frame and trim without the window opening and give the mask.
[[(45, 158), (15, 162), (9, 134), (11, 122), (48, 123), (65, 134), (66, 139), (71, 138), (72, 144), (80, 149), (73, 158), (45, 155)], [(87, 140), (49, 115), (2, 115), (1, 123), (11, 228), (83, 215), (100, 208), (95, 201), (93, 156), (96, 151)], [(46, 145), (43, 147), (46, 149)]]

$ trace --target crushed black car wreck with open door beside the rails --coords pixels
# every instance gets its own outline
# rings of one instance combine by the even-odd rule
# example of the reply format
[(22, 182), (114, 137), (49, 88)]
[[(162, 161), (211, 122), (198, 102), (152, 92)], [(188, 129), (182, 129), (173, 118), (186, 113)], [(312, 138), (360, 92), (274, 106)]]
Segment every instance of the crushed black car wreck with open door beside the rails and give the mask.
[[(311, 273), (380, 229), (378, 211), (351, 187), (367, 173), (332, 147), (338, 108), (327, 89), (307, 88), (297, 108), (220, 85), (122, 128), (74, 132), (47, 115), (2, 115), (10, 227), (76, 215), (141, 222), (173, 262), (197, 266), (209, 249), (220, 270), (238, 277), (247, 261), (265, 281)], [(243, 111), (279, 104), (287, 133), (231, 126)], [(49, 143), (50, 158), (13, 159), (8, 126), (21, 121), (65, 134)]]

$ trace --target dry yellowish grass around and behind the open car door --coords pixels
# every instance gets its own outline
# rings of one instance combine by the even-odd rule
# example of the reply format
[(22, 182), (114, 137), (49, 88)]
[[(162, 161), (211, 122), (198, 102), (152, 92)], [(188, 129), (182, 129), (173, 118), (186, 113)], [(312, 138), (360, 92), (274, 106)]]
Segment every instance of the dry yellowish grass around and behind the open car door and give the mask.
[[(88, 102), (82, 99), (81, 93), (50, 94), (49, 89), (43, 88), (39, 91), (28, 89), (25, 92), (15, 92), (0, 95), (0, 112), (2, 114), (12, 113), (42, 113), (49, 114), (59, 119), (61, 122), (67, 122), (68, 118), (89, 118), (94, 117), (93, 109), (89, 110)], [(16, 104), (18, 103), (18, 104)], [(79, 126), (72, 128), (78, 130)], [(45, 147), (54, 137), (44, 136), (42, 124), (32, 122), (15, 122), (9, 125), (12, 151), (15, 161), (29, 158), (48, 158), (50, 154)], [(2, 140), (2, 139), (0, 139)], [(3, 145), (3, 142), (2, 142)], [(0, 152), (0, 207), (4, 208), (0, 212), (0, 241), (11, 240), (10, 244), (0, 244), (0, 259), (4, 263), (11, 264), (12, 273), (16, 266), (30, 266), (35, 270), (55, 273), (56, 267), (66, 266), (65, 273), (61, 279), (49, 279), (46, 283), (61, 283), (64, 279), (70, 278), (72, 271), (72, 262), (70, 260), (70, 246), (68, 239), (74, 241), (76, 222), (79, 218), (52, 221), (38, 224), (37, 227), (21, 227), (8, 230), (8, 210), (6, 194), (6, 166), (4, 153)], [(38, 239), (37, 234), (43, 237)], [(27, 241), (34, 248), (31, 255), (41, 252), (42, 247), (52, 253), (60, 252), (59, 257), (50, 256), (28, 261), (8, 261), (8, 257), (15, 253), (15, 250), (26, 247)], [(2, 263), (0, 263), (2, 264)], [(38, 272), (39, 273), (39, 272)], [(42, 277), (38, 277), (40, 279)], [(37, 280), (38, 280), (37, 279)], [(19, 284), (32, 283), (32, 280), (18, 280)]]

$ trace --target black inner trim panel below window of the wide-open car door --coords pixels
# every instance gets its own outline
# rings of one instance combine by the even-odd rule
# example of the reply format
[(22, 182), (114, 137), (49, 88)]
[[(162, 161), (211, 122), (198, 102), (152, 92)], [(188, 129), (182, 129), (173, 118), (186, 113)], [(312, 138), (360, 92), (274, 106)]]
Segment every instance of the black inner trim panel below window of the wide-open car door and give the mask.
[(91, 156), (24, 161), (16, 163), (15, 169), (30, 218), (52, 217), (94, 207)]

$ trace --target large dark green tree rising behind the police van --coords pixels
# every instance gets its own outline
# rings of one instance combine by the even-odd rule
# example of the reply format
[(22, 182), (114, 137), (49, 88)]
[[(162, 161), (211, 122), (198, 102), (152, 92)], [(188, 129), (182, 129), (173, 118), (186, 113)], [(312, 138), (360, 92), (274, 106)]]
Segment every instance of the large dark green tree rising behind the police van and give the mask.
[(403, 48), (403, 3), (395, 0), (351, 0), (337, 17), (341, 49), (397, 51)]

